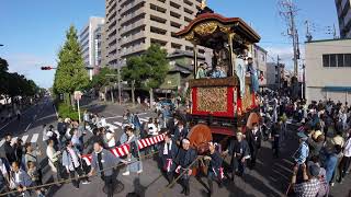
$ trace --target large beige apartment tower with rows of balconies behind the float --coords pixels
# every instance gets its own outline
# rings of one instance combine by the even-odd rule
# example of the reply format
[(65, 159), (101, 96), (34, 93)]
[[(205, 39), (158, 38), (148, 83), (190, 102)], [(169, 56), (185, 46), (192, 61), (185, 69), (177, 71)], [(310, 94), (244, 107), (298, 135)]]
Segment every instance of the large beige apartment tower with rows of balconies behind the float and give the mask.
[[(139, 55), (151, 44), (169, 54), (192, 51), (191, 43), (176, 37), (195, 18), (201, 0), (106, 0), (106, 63), (123, 65), (127, 57)], [(203, 48), (199, 49), (204, 54)]]

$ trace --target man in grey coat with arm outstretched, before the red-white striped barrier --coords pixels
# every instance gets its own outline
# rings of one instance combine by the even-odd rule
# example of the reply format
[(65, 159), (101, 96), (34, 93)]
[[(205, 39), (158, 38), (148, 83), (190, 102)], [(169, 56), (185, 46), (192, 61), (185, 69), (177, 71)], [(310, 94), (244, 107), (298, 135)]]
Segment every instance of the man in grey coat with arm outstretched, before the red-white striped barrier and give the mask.
[(105, 184), (107, 197), (112, 197), (117, 183), (117, 175), (114, 167), (117, 166), (120, 161), (126, 162), (113, 155), (111, 151), (104, 149), (102, 141), (95, 141), (93, 150), (94, 151), (91, 154), (91, 170), (88, 175), (92, 176), (98, 172)]

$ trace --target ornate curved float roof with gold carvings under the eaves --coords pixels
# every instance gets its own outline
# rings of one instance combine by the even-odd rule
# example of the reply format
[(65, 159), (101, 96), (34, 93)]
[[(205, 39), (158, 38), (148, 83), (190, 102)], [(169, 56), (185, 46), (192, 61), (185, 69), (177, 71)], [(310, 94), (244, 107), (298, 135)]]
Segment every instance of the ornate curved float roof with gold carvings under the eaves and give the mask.
[(193, 43), (201, 43), (201, 39), (216, 32), (222, 32), (227, 35), (235, 34), (235, 36), (240, 37), (245, 43), (252, 44), (261, 39), (258, 33), (240, 18), (224, 18), (220, 14), (213, 13), (213, 11), (197, 14), (184, 30), (178, 32), (176, 35)]

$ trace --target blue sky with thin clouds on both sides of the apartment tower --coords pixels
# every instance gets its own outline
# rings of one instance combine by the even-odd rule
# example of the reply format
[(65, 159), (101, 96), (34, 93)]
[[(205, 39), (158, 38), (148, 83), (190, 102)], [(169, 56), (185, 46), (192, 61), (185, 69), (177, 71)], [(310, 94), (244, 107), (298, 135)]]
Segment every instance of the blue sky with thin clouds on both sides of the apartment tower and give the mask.
[[(291, 65), (292, 48), (286, 25), (279, 14), (278, 0), (207, 0), (208, 5), (225, 16), (239, 16), (261, 35), (259, 45), (271, 57), (278, 54)], [(331, 38), (327, 27), (337, 22), (333, 0), (294, 0), (298, 7), (296, 23), (301, 42), (305, 40), (305, 20), (314, 26), (316, 39)], [(0, 57), (9, 61), (10, 71), (18, 71), (37, 84), (49, 88), (55, 71), (42, 66), (56, 66), (57, 53), (70, 24), (81, 30), (89, 16), (104, 16), (104, 0), (1, 0)], [(338, 27), (338, 26), (337, 26)], [(301, 46), (302, 51), (304, 45)], [(270, 60), (270, 59), (269, 59)]]

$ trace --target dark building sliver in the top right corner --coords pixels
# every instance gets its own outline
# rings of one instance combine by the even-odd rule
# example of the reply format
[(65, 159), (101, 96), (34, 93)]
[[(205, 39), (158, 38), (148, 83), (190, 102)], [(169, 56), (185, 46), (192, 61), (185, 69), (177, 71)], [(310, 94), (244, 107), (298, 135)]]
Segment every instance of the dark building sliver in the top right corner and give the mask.
[(336, 0), (341, 38), (351, 38), (351, 0)]

